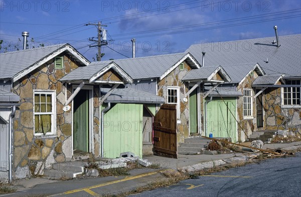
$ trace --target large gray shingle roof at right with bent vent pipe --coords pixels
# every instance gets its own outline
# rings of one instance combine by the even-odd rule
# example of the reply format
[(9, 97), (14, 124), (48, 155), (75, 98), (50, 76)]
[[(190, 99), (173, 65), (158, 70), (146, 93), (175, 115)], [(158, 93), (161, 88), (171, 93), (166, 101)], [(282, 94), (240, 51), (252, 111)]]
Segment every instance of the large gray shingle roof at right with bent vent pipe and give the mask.
[(258, 62), (267, 74), (301, 76), (301, 34), (279, 36), (280, 47), (273, 44), (273, 40), (275, 36), (215, 43), (204, 41), (191, 45), (186, 52), (199, 62), (202, 62), (202, 51), (206, 52), (205, 66), (221, 65), (233, 82), (245, 76), (240, 66), (247, 62), (253, 65)]

